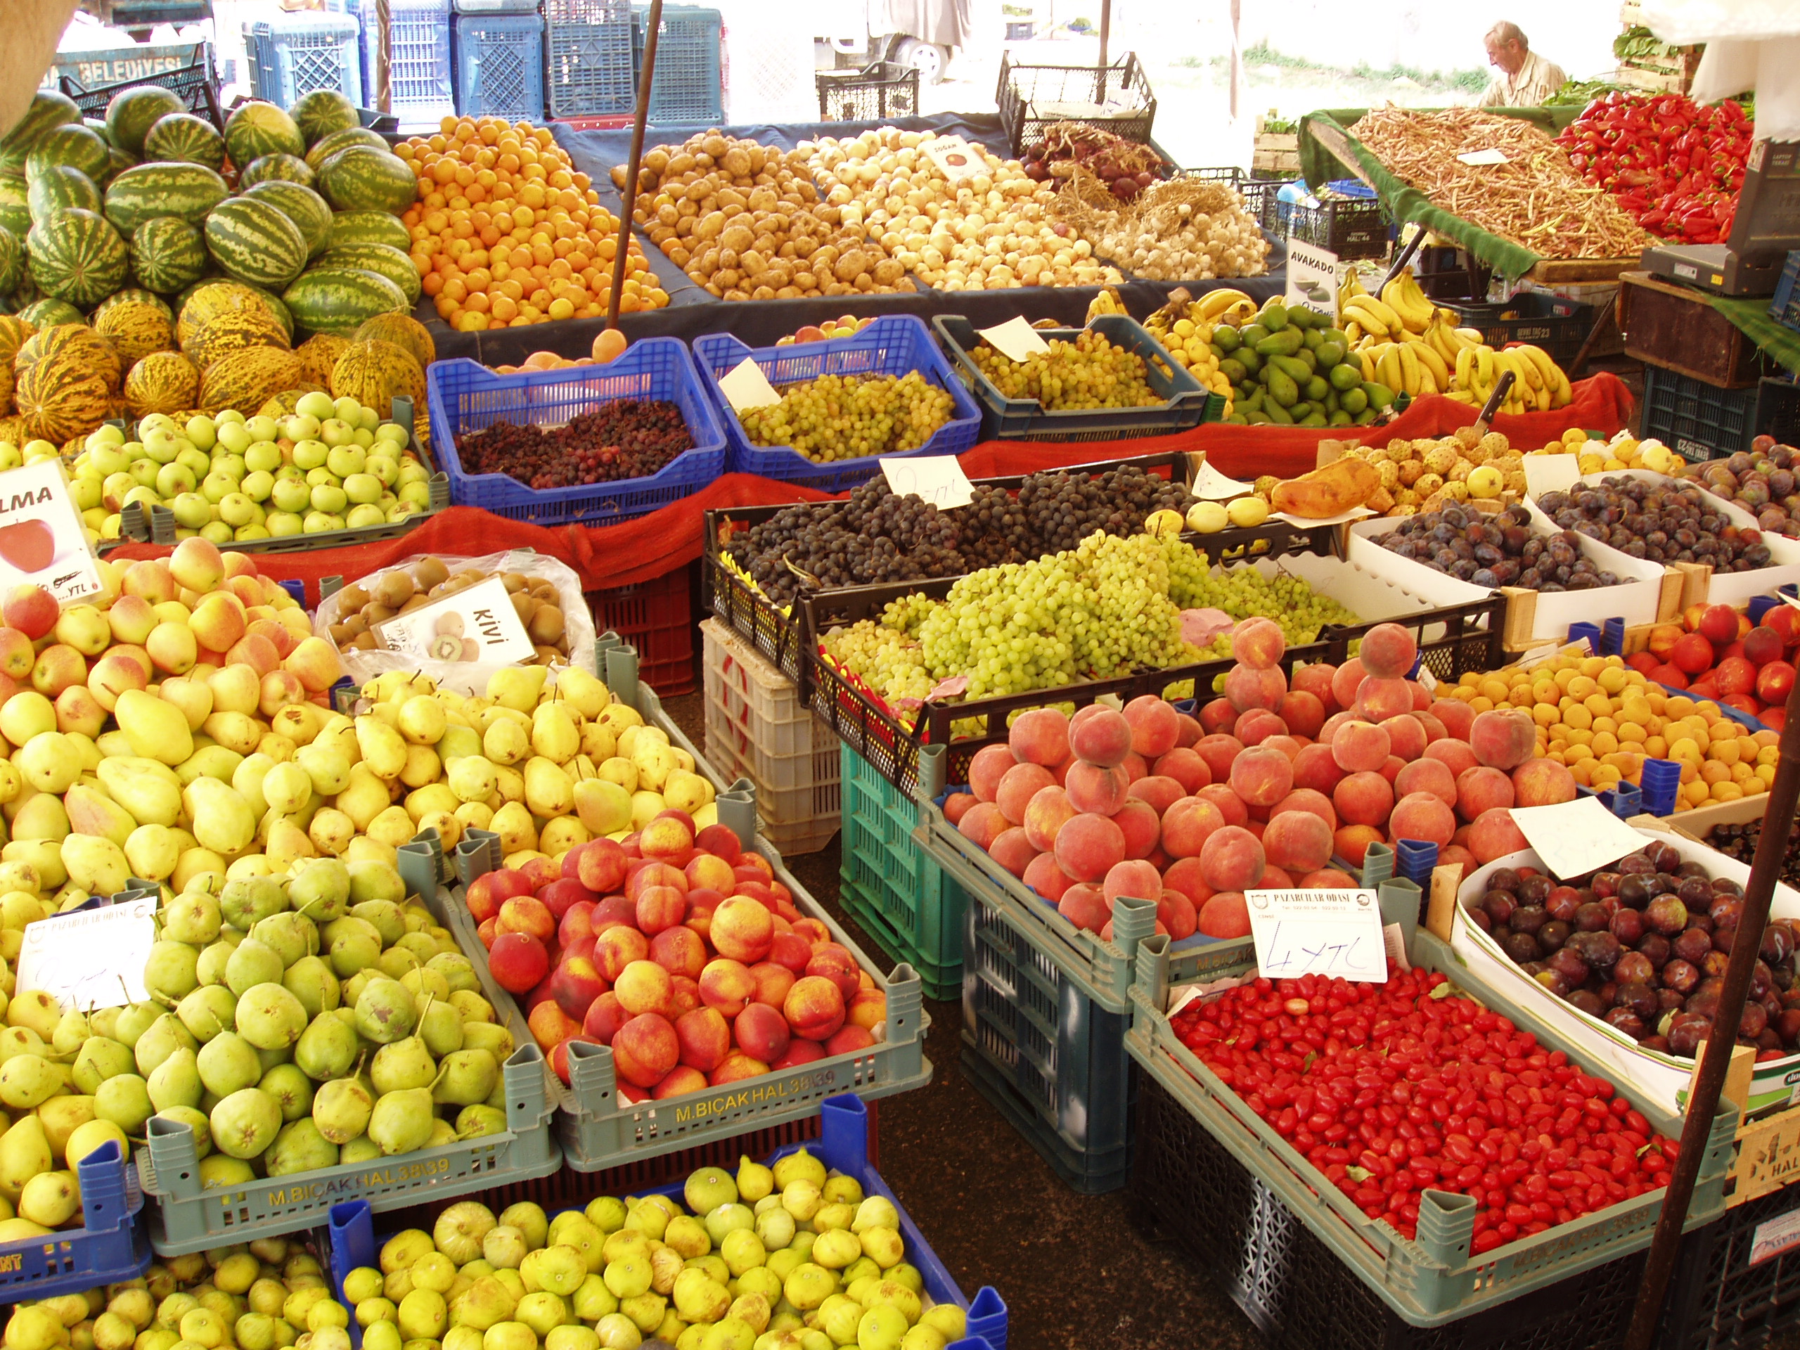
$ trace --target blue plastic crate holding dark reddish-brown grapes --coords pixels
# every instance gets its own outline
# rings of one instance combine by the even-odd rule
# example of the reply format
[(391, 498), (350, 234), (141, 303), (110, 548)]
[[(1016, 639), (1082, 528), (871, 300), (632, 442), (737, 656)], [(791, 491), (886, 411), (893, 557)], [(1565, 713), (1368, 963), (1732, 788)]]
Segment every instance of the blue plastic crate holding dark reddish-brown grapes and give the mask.
[[(536, 526), (614, 524), (691, 497), (725, 472), (725, 436), (679, 338), (644, 338), (608, 365), (497, 374), (472, 360), (432, 362), (425, 376), (432, 450), (450, 475), (450, 500)], [(621, 398), (668, 400), (693, 448), (661, 473), (580, 488), (527, 488), (506, 473), (464, 473), (457, 439), (497, 421), (560, 427)]]

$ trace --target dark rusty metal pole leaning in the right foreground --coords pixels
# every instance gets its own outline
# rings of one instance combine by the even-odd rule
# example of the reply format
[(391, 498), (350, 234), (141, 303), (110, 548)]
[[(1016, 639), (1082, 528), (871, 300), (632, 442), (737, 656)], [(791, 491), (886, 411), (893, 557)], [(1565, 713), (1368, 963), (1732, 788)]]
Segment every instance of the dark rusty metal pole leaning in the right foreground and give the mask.
[(1762, 927), (1769, 918), (1769, 896), (1775, 893), (1775, 880), (1780, 877), (1782, 857), (1787, 851), (1795, 799), (1800, 797), (1800, 686), (1795, 686), (1787, 697), (1787, 724), (1782, 727), (1780, 751), (1775, 781), (1769, 785), (1769, 805), (1762, 815), (1762, 833), (1757, 837), (1757, 857), (1750, 864), (1750, 882), (1744, 886), (1744, 913), (1739, 914), (1732, 961), (1724, 968), (1724, 990), (1719, 994), (1714, 1033), (1706, 1037), (1699, 1058), (1699, 1076), (1694, 1080), (1694, 1091), (1688, 1093), (1687, 1120), (1681, 1125), (1681, 1156), (1676, 1157), (1669, 1174), (1669, 1190), (1663, 1192), (1663, 1210), (1656, 1220), (1656, 1237), (1651, 1240), (1651, 1256), (1643, 1264), (1643, 1283), (1638, 1285), (1638, 1305), (1631, 1312), (1625, 1350), (1649, 1350), (1656, 1339), (1656, 1323), (1661, 1318), (1669, 1276), (1674, 1273), (1676, 1256), (1681, 1251), (1681, 1222), (1694, 1199), (1694, 1179), (1699, 1174), (1701, 1156), (1706, 1152), (1712, 1118), (1719, 1111), (1719, 1089), (1724, 1087), (1724, 1073), (1732, 1064), (1732, 1046), (1737, 1044), (1732, 1028), (1737, 1028), (1744, 1015), (1744, 997), (1750, 994), (1757, 949), (1762, 945)]

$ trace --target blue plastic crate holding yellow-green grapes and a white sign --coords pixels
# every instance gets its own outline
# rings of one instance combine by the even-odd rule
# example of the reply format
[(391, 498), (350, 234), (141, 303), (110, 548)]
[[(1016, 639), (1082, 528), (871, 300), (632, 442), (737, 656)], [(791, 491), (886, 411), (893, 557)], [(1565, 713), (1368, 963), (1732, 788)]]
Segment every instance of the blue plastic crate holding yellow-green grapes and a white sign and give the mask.
[[(959, 455), (976, 443), (981, 428), (981, 409), (970, 398), (967, 385), (950, 369), (931, 331), (914, 315), (882, 315), (873, 324), (848, 338), (806, 342), (790, 347), (745, 347), (731, 333), (707, 333), (693, 340), (693, 360), (700, 367), (713, 407), (725, 427), (731, 446), (733, 473), (760, 473), (779, 482), (801, 482), (824, 491), (844, 491), (882, 472), (882, 455), (837, 459), (828, 464), (806, 459), (785, 446), (756, 446), (743, 436), (743, 425), (718, 389), (718, 382), (745, 356), (756, 360), (776, 389), (805, 383), (821, 374), (905, 374), (920, 371), (925, 380), (949, 389), (956, 401), (950, 421), (932, 432), (918, 450), (907, 455)], [(891, 457), (891, 455), (889, 455)]]

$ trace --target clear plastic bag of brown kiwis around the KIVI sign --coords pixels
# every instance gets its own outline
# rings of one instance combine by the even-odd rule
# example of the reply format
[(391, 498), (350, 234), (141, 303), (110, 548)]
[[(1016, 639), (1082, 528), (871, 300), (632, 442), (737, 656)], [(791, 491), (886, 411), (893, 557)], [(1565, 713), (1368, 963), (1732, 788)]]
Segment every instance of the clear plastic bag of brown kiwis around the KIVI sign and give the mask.
[(418, 670), (441, 688), (479, 695), (486, 691), (488, 677), (504, 666), (482, 661), (421, 661), (389, 652), (380, 628), (400, 614), (495, 576), (506, 583), (513, 610), (536, 648), (536, 664), (574, 664), (594, 671), (594, 619), (581, 596), (581, 578), (567, 563), (542, 553), (490, 553), (481, 558), (414, 554), (326, 596), (313, 614), (313, 634), (337, 644), (344, 673), (356, 684), (367, 684), (391, 670)]

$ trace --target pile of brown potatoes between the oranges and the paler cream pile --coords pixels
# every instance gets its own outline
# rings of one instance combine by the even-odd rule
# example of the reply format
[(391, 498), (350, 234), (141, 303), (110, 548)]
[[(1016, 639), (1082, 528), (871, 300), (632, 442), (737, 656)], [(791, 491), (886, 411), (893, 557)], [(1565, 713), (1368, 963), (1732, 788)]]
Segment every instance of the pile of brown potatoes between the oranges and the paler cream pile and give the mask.
[[(625, 167), (612, 171), (625, 189)], [(907, 290), (905, 266), (819, 200), (799, 151), (718, 131), (644, 153), (635, 220), (697, 286), (725, 301)]]

